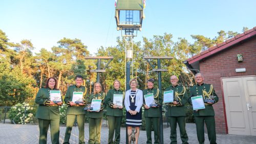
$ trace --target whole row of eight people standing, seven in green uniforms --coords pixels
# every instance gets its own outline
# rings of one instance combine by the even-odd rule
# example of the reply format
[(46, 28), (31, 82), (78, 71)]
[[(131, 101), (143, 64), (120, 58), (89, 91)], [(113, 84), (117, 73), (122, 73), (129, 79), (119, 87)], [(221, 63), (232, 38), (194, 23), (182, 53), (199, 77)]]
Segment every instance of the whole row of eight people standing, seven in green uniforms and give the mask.
[[(218, 96), (214, 88), (210, 84), (205, 84), (203, 75), (198, 73), (195, 75), (197, 85), (190, 88), (190, 95), (184, 86), (178, 85), (177, 76), (170, 77), (172, 86), (165, 89), (165, 91), (172, 90), (174, 93), (174, 101), (165, 103), (168, 105), (167, 116), (170, 123), (170, 143), (177, 143), (177, 123), (180, 129), (180, 137), (182, 143), (188, 143), (188, 135), (185, 129), (185, 104), (192, 105), (191, 98), (202, 95), (205, 101), (204, 109), (194, 110), (194, 117), (197, 129), (197, 137), (199, 143), (204, 143), (204, 124), (206, 125), (208, 138), (210, 143), (216, 143), (216, 130), (215, 130), (215, 113), (212, 104), (218, 102)], [(162, 112), (159, 108), (163, 105), (163, 97), (161, 90), (154, 87), (154, 79), (147, 80), (147, 88), (140, 90), (137, 88), (138, 82), (136, 79), (130, 80), (131, 89), (126, 92), (120, 90), (121, 83), (118, 80), (113, 82), (113, 89), (110, 89), (106, 94), (102, 92), (100, 83), (95, 83), (93, 92), (87, 93), (87, 88), (82, 86), (82, 77), (76, 76), (75, 85), (69, 86), (64, 102), (68, 105), (67, 109), (67, 129), (63, 143), (69, 143), (72, 127), (75, 119), (79, 129), (79, 143), (84, 143), (84, 120), (87, 115), (89, 118), (89, 141), (88, 143), (100, 143), (101, 122), (103, 116), (103, 109), (106, 109), (108, 116), (109, 126), (109, 140), (108, 143), (120, 143), (120, 127), (123, 116), (123, 108), (126, 109), (126, 127), (128, 143), (135, 140), (138, 143), (140, 126), (142, 125), (142, 107), (144, 108), (145, 128), (146, 128), (146, 143), (152, 143), (151, 132), (154, 130), (154, 143), (159, 141), (159, 118)], [(39, 143), (47, 143), (47, 131), (50, 125), (51, 141), (52, 143), (59, 143), (59, 109), (58, 106), (62, 105), (62, 101), (54, 103), (50, 100), (50, 91), (58, 90), (56, 88), (57, 81), (55, 78), (49, 78), (46, 82), (45, 88), (40, 88), (35, 99), (38, 110), (36, 117), (38, 118), (39, 125)], [(83, 102), (74, 103), (73, 93), (82, 92)], [(115, 103), (115, 95), (122, 96), (124, 104)], [(146, 105), (145, 95), (151, 94), (154, 97), (154, 102)], [(210, 98), (210, 99), (209, 99)], [(101, 100), (100, 109), (97, 111), (90, 109), (90, 104), (93, 100)], [(84, 110), (88, 107), (87, 110)], [(113, 139), (114, 138), (114, 139)]]

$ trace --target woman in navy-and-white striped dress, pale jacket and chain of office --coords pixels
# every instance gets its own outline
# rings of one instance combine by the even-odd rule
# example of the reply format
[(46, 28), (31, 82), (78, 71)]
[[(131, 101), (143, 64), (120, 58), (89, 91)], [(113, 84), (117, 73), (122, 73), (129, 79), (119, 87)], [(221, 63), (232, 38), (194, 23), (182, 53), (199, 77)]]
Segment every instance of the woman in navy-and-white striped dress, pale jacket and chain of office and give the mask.
[(124, 106), (126, 109), (126, 126), (128, 140), (131, 141), (132, 127), (135, 127), (135, 143), (138, 143), (140, 126), (142, 125), (142, 104), (143, 93), (142, 90), (137, 88), (138, 82), (136, 79), (131, 79), (130, 90), (125, 92)]

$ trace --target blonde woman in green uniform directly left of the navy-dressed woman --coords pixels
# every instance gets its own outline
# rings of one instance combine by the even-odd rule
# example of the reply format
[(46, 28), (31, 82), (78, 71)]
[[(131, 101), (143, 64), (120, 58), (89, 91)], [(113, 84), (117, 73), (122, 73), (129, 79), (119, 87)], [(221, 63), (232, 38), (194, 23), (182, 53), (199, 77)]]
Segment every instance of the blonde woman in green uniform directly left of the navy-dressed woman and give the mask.
[[(124, 92), (120, 90), (121, 83), (114, 81), (114, 88), (106, 93), (106, 115), (109, 122), (109, 143), (120, 143), (120, 128), (123, 116)], [(114, 102), (114, 96), (122, 99), (122, 102)], [(113, 141), (115, 132), (115, 139)]]

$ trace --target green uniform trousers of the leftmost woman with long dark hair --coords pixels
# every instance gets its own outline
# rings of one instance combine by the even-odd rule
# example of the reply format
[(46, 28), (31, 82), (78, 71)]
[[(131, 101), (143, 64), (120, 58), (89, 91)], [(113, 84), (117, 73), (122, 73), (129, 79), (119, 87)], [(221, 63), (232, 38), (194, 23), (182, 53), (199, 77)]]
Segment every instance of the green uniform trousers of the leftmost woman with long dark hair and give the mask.
[(51, 140), (53, 144), (59, 144), (59, 118), (58, 119), (40, 119), (38, 118), (39, 126), (39, 144), (47, 143), (47, 132), (50, 125)]

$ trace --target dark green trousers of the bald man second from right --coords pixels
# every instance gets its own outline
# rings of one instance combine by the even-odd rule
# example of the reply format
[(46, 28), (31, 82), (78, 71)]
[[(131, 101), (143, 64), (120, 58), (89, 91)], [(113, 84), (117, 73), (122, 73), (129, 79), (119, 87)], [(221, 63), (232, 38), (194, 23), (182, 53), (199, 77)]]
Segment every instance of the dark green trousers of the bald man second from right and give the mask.
[(170, 143), (177, 144), (177, 123), (180, 129), (180, 138), (183, 144), (187, 144), (188, 136), (186, 132), (185, 116), (169, 116), (170, 118)]

